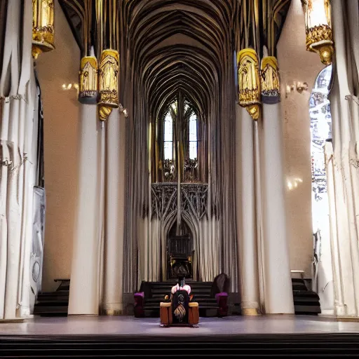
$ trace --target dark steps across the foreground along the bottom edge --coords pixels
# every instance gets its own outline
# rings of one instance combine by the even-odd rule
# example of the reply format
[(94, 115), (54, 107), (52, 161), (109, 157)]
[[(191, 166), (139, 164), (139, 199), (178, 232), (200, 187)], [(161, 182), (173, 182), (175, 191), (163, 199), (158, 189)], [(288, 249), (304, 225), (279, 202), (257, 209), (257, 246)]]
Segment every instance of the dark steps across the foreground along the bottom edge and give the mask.
[[(163, 328), (163, 331), (166, 329)], [(226, 358), (358, 356), (358, 334), (236, 334), (232, 336), (0, 337), (0, 358)], [(184, 353), (185, 351), (185, 353)]]

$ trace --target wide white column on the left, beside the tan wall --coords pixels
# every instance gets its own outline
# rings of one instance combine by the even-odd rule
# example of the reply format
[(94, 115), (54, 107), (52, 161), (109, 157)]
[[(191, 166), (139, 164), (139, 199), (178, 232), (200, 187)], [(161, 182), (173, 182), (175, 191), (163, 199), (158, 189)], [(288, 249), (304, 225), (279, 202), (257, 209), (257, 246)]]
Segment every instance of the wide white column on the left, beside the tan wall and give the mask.
[(72, 255), (69, 314), (98, 314), (100, 256), (100, 131), (97, 106), (81, 104), (79, 200)]

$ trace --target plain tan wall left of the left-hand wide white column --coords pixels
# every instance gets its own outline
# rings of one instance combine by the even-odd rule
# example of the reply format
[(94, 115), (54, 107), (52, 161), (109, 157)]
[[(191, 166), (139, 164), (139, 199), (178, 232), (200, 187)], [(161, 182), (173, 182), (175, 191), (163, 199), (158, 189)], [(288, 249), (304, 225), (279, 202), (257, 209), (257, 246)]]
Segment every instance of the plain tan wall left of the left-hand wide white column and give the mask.
[(43, 290), (53, 290), (54, 278), (69, 278), (77, 198), (80, 50), (62, 9), (55, 1), (55, 50), (39, 55), (36, 69), (43, 98), (46, 228)]

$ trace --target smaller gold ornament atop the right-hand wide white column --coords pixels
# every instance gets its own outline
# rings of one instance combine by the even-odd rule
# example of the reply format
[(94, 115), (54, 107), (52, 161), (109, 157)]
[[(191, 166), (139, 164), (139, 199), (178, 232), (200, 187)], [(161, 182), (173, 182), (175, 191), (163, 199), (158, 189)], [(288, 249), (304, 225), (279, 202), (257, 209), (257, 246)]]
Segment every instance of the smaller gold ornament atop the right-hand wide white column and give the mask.
[(280, 101), (278, 62), (274, 56), (266, 56), (261, 64), (262, 102), (275, 104)]

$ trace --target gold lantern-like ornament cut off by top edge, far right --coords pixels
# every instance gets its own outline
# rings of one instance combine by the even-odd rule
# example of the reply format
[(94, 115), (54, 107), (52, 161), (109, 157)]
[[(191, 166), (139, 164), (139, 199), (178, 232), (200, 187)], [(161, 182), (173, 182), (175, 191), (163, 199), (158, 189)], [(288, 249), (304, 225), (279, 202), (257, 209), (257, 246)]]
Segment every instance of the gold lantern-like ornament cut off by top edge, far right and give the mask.
[(325, 65), (332, 63), (334, 41), (330, 0), (302, 0), (306, 13), (306, 49), (318, 53)]

